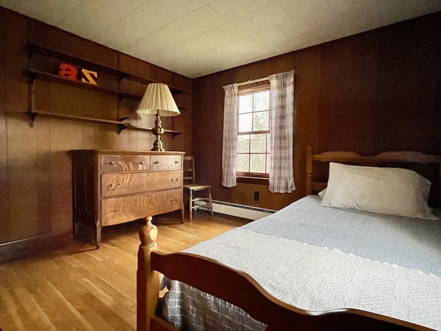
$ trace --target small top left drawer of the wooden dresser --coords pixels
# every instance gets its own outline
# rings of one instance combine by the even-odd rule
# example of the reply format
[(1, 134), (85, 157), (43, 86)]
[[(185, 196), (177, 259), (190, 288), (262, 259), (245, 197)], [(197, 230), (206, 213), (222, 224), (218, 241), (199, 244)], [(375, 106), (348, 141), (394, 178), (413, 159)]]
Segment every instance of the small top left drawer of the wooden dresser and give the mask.
[(101, 155), (101, 172), (121, 172), (150, 169), (150, 155)]

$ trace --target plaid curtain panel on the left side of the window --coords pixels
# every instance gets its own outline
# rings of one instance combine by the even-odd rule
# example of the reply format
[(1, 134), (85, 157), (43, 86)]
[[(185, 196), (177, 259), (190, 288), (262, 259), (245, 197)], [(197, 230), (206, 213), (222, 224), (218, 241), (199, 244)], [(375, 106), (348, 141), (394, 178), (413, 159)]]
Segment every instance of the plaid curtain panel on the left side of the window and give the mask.
[(238, 86), (236, 83), (224, 86), (222, 140), (222, 185), (232, 188), (236, 182), (237, 113), (239, 108)]

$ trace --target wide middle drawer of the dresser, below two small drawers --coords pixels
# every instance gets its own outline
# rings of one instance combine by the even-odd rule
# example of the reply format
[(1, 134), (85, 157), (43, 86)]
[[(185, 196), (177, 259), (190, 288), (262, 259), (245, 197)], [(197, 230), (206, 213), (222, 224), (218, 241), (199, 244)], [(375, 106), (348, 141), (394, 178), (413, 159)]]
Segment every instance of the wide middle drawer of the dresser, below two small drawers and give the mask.
[(180, 170), (102, 174), (101, 196), (113, 197), (168, 188), (181, 188), (182, 183), (183, 178)]

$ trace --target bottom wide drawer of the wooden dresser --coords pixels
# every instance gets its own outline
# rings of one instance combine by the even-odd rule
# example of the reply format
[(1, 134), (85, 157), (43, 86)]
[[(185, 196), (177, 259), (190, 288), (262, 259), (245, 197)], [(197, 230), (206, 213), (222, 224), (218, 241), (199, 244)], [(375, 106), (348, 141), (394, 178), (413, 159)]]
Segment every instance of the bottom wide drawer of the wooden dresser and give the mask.
[(101, 200), (102, 225), (114, 225), (183, 208), (183, 190), (166, 190)]

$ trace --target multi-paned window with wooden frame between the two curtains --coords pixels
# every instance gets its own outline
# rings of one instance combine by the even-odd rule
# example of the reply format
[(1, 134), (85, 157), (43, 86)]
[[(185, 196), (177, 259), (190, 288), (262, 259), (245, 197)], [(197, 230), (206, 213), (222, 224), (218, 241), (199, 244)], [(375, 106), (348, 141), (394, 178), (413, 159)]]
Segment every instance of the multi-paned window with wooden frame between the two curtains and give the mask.
[(239, 90), (236, 176), (269, 177), (269, 83)]

